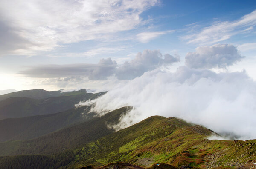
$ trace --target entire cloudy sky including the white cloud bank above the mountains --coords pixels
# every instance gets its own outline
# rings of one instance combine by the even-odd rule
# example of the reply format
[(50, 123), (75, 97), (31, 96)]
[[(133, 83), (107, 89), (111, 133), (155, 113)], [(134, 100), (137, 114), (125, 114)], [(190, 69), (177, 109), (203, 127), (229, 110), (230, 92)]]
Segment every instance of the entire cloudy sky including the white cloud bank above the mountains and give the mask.
[(109, 91), (92, 111), (256, 138), (255, 0), (1, 0), (0, 91)]

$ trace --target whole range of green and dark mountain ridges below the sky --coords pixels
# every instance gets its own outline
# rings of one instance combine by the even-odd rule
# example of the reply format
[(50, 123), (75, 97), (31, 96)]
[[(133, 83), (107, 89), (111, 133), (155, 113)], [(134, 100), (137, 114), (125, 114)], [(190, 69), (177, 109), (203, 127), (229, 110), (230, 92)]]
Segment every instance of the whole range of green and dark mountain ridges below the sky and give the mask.
[(218, 133), (162, 116), (116, 131), (113, 125), (133, 107), (99, 116), (91, 106), (74, 106), (105, 93), (40, 89), (1, 95), (0, 168), (256, 168), (256, 140), (210, 140)]

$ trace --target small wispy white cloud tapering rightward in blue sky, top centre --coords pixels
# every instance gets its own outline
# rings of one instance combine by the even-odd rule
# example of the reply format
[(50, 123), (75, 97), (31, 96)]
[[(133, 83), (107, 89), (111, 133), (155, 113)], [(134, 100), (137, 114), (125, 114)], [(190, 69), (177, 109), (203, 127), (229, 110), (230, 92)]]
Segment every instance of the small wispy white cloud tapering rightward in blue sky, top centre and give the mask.
[(141, 43), (148, 43), (150, 40), (153, 40), (163, 34), (167, 34), (174, 31), (160, 31), (160, 32), (142, 32), (136, 35), (137, 40)]

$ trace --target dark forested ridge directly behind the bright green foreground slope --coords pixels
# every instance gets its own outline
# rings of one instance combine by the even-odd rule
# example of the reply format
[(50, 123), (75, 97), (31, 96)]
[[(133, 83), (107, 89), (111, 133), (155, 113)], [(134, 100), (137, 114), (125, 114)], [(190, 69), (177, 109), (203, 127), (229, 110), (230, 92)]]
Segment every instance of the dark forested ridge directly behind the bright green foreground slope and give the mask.
[(95, 117), (36, 139), (0, 143), (0, 155), (51, 154), (89, 143), (114, 132), (106, 124), (117, 123), (127, 109), (127, 107), (117, 109), (102, 117)]

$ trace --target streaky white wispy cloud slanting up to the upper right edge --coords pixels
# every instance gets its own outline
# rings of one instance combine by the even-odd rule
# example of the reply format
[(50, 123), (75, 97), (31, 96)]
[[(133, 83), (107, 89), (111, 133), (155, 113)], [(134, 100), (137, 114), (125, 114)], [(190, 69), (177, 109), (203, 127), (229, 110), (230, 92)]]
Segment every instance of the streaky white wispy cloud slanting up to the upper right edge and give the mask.
[(239, 20), (215, 22), (199, 32), (183, 36), (182, 39), (186, 40), (187, 43), (213, 44), (227, 40), (236, 34), (253, 32), (255, 25), (256, 10), (244, 15)]

